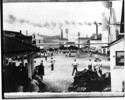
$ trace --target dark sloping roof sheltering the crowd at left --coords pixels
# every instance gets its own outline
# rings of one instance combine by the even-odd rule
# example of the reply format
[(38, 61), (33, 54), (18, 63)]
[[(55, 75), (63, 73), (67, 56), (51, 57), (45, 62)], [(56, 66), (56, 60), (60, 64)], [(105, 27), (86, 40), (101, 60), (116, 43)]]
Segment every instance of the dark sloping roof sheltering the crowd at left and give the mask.
[(11, 57), (11, 56), (26, 55), (38, 51), (39, 48), (31, 44), (27, 44), (25, 42), (21, 42), (19, 40), (3, 35), (2, 53), (5, 56)]

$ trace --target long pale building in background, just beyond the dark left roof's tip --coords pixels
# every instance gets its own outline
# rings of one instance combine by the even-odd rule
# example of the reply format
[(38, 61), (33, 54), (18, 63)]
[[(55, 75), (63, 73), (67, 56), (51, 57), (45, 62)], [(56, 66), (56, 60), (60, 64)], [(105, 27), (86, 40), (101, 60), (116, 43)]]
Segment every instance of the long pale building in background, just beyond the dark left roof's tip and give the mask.
[(66, 38), (60, 38), (59, 36), (47, 36), (40, 34), (33, 34), (34, 45), (40, 49), (59, 48), (60, 45), (66, 44)]

